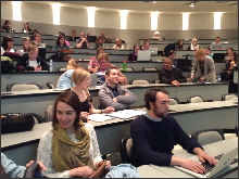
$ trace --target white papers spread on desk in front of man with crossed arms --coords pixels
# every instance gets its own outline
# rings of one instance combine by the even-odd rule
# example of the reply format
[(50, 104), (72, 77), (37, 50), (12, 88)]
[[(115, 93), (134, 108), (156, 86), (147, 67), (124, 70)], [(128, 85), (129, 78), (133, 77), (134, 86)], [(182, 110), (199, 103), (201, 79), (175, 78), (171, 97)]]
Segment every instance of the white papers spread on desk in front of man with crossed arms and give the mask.
[(108, 114), (110, 116), (116, 117), (116, 118), (131, 118), (141, 114), (144, 114), (146, 112), (142, 111), (135, 111), (135, 110), (124, 110), (124, 111), (118, 111), (118, 112), (114, 112), (111, 114)]

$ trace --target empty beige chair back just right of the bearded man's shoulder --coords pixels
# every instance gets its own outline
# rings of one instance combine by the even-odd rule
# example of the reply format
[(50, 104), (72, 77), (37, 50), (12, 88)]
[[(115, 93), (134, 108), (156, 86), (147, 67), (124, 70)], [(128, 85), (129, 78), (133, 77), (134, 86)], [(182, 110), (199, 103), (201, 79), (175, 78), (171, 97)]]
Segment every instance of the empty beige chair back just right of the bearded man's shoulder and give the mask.
[(191, 138), (201, 145), (225, 140), (224, 132), (217, 128), (193, 131)]

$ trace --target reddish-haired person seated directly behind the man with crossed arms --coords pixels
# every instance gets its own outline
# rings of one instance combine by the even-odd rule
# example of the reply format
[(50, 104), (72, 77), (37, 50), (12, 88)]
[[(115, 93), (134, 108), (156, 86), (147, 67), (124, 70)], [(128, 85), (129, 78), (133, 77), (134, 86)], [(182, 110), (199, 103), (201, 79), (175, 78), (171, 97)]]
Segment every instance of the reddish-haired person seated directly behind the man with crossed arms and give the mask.
[[(105, 82), (105, 72), (109, 67), (115, 66), (110, 63), (110, 59), (106, 53), (100, 53), (98, 55), (98, 63), (99, 66), (96, 67), (93, 74), (98, 75), (98, 84), (103, 85)], [(120, 82), (121, 85), (126, 85), (127, 79), (126, 77), (120, 73)]]

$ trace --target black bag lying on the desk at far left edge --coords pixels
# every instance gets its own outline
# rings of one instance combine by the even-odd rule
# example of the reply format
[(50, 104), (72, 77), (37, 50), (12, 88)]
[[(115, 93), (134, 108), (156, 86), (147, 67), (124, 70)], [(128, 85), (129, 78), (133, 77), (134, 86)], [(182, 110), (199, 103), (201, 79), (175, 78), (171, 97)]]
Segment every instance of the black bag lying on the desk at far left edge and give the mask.
[(13, 133), (33, 129), (35, 119), (29, 115), (1, 115), (1, 132)]

